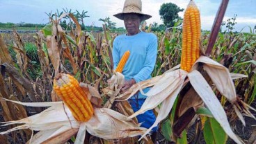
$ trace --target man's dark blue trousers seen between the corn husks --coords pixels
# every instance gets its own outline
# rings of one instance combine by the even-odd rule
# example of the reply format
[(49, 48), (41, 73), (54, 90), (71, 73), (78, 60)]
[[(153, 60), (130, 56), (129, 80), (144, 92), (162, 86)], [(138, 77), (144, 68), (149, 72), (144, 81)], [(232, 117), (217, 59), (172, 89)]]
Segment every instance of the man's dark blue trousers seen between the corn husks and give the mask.
[[(134, 110), (134, 112), (136, 112), (141, 109), (141, 106), (145, 102), (145, 98), (130, 98), (128, 102), (130, 103), (131, 108)], [(147, 129), (150, 128), (156, 120), (156, 116), (154, 115), (152, 109), (145, 111), (144, 114), (136, 116), (136, 118), (138, 120), (138, 123), (142, 123), (141, 127), (145, 127)], [(157, 132), (157, 127), (154, 127), (152, 129), (152, 132)]]

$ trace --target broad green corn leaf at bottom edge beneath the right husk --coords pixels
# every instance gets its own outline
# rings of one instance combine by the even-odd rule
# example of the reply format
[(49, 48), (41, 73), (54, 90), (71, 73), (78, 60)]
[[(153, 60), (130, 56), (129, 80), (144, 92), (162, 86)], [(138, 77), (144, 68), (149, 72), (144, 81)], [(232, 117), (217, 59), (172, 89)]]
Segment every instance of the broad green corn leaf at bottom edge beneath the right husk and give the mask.
[(207, 144), (225, 144), (227, 134), (221, 125), (214, 118), (207, 118), (205, 123), (204, 136)]

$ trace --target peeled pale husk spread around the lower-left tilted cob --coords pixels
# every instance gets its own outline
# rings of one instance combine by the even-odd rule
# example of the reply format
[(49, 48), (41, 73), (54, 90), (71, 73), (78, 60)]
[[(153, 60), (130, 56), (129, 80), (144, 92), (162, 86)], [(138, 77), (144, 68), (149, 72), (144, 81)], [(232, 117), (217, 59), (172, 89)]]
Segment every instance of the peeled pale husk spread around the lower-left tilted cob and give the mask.
[[(88, 87), (86, 84), (80, 84), (82, 87)], [(89, 87), (90, 92), (94, 90)], [(93, 93), (90, 93), (93, 97)], [(98, 93), (96, 94), (98, 95)], [(92, 100), (91, 98), (90, 100)], [(4, 99), (6, 100), (6, 99)], [(15, 102), (20, 105), (30, 107), (49, 107), (42, 111), (40, 114), (35, 114), (24, 118), (22, 120), (15, 120), (9, 122), (3, 122), (4, 126), (21, 124), (13, 129), (8, 129), (0, 134), (7, 134), (18, 129), (31, 129), (33, 131), (40, 131), (35, 134), (29, 143), (42, 143), (44, 141), (58, 136), (63, 132), (73, 131), (79, 129), (75, 143), (83, 143), (86, 130), (99, 138), (104, 139), (120, 139), (132, 136), (138, 136), (145, 132), (145, 128), (139, 127), (132, 120), (129, 120), (127, 116), (124, 116), (117, 111), (106, 108), (94, 107), (94, 115), (87, 122), (79, 122), (74, 119), (72, 113), (63, 102)], [(95, 100), (99, 102), (99, 100)], [(95, 106), (95, 105), (93, 105)], [(64, 138), (63, 138), (64, 139)], [(57, 142), (56, 142), (57, 143)]]

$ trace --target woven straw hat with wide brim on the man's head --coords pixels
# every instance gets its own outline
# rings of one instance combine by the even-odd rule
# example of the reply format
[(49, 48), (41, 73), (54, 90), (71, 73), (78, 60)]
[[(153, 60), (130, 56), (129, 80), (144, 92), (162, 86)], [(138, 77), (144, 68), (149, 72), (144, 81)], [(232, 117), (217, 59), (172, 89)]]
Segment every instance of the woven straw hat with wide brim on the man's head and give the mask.
[(124, 14), (129, 13), (136, 13), (142, 16), (142, 21), (145, 21), (146, 19), (150, 19), (152, 17), (151, 15), (144, 14), (141, 12), (142, 6), (141, 6), (141, 0), (125, 0), (124, 8), (122, 9), (122, 12), (115, 14), (114, 16), (118, 19), (124, 20)]

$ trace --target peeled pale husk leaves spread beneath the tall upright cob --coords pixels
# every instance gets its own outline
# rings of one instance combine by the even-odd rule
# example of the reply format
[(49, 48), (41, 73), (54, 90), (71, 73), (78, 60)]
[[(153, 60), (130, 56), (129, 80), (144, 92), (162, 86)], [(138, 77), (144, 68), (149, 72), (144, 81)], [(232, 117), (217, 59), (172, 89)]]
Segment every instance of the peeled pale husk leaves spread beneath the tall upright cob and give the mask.
[[(218, 64), (218, 62), (215, 62), (214, 60), (211, 60), (208, 57), (201, 56), (195, 62), (191, 72), (189, 73), (183, 71), (182, 69), (167, 71), (166, 73), (163, 73), (163, 75), (157, 76), (157, 78), (152, 78), (150, 80), (139, 82), (137, 84), (137, 86), (139, 86), (138, 88), (131, 87), (129, 91), (127, 91), (127, 93), (124, 93), (121, 96), (119, 96), (120, 100), (124, 99), (122, 97), (125, 97), (125, 99), (127, 99), (133, 96), (134, 93), (140, 91), (145, 87), (154, 86), (152, 87), (152, 89), (150, 89), (150, 91), (145, 93), (145, 95), (148, 97), (145, 100), (141, 109), (133, 115), (129, 116), (129, 118), (134, 118), (135, 116), (143, 114), (145, 111), (149, 109), (154, 109), (154, 107), (157, 107), (157, 105), (161, 103), (162, 105), (159, 110), (157, 119), (154, 125), (152, 125), (152, 127), (155, 127), (161, 120), (168, 116), (179, 91), (181, 91), (182, 87), (184, 87), (184, 85), (186, 85), (187, 83), (185, 80), (187, 76), (189, 78), (189, 81), (191, 82), (192, 87), (194, 87), (195, 91), (197, 91), (198, 95), (205, 102), (205, 105), (209, 108), (214, 118), (216, 118), (218, 123), (221, 124), (227, 135), (230, 136), (230, 138), (232, 138), (236, 143), (243, 143), (243, 141), (241, 141), (241, 138), (239, 138), (239, 136), (232, 132), (225, 111), (223, 110), (221, 103), (216, 98), (211, 87), (206, 82), (205, 78), (202, 77), (201, 73), (199, 73), (196, 70), (198, 68), (199, 62), (203, 63), (203, 68), (209, 74), (211, 80), (214, 82), (218, 91), (220, 91), (223, 94), (223, 96), (225, 96), (227, 100), (229, 100), (232, 103), (242, 123), (244, 123), (244, 119), (241, 112), (238, 109), (246, 111), (246, 114), (253, 117), (253, 114), (250, 114), (249, 111), (249, 108), (253, 108), (237, 100), (234, 84), (232, 82), (232, 79), (246, 78), (246, 75), (232, 74), (234, 76), (234, 78), (232, 78), (230, 72), (228, 71), (227, 68), (225, 68), (225, 66)], [(241, 104), (243, 107), (239, 107), (239, 105)], [(147, 129), (147, 132), (145, 132), (143, 136), (149, 133), (152, 127), (150, 127), (150, 129)]]

